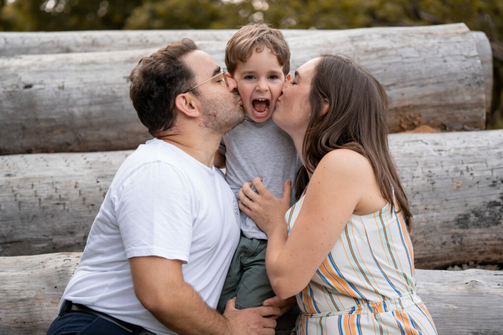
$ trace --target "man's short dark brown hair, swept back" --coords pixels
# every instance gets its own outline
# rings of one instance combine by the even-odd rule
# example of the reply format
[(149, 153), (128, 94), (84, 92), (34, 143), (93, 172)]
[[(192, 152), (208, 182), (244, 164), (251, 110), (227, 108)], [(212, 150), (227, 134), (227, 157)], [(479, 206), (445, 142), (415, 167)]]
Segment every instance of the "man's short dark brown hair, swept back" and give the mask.
[(197, 46), (191, 39), (173, 42), (140, 59), (129, 75), (134, 109), (154, 137), (175, 125), (175, 99), (195, 85), (194, 73), (182, 59), (194, 50)]

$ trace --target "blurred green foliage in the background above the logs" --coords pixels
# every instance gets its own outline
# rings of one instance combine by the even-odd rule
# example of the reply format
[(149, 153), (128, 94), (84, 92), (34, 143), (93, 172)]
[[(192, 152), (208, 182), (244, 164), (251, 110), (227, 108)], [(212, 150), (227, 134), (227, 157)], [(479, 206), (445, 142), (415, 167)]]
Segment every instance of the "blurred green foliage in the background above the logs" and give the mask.
[(282, 29), (464, 22), (491, 41), (491, 122), (503, 115), (501, 0), (0, 0), (0, 31), (235, 29), (248, 22), (269, 22)]

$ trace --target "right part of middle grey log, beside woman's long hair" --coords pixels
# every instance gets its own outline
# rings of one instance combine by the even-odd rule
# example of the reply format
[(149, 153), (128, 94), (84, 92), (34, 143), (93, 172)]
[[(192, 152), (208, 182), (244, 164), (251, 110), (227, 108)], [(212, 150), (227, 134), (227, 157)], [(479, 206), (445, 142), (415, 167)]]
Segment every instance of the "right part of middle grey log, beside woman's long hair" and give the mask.
[(418, 268), (503, 263), (503, 130), (389, 137)]

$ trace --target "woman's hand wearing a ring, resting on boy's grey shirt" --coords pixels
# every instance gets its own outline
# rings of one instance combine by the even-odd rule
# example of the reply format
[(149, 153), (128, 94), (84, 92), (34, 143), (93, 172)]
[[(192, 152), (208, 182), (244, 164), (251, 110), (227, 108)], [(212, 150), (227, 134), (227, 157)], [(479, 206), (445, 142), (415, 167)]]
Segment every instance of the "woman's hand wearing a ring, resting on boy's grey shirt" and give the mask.
[(290, 196), (292, 194), (292, 180), (287, 179), (283, 184), (281, 198), (275, 197), (262, 183), (262, 178), (255, 177), (253, 184), (257, 189), (251, 189), (252, 183), (246, 182), (239, 189), (239, 209), (255, 221), (257, 226), (268, 236), (273, 229), (285, 225), (285, 213), (290, 208)]

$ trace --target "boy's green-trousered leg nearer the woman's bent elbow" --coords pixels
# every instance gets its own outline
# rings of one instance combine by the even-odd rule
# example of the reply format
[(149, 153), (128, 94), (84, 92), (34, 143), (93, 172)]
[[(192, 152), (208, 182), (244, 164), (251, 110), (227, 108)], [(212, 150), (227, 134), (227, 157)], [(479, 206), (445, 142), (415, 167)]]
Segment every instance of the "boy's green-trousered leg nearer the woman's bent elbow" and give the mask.
[(241, 256), (242, 277), (236, 291), (236, 308), (262, 306), (275, 296), (266, 272), (267, 240), (251, 240), (251, 246)]

